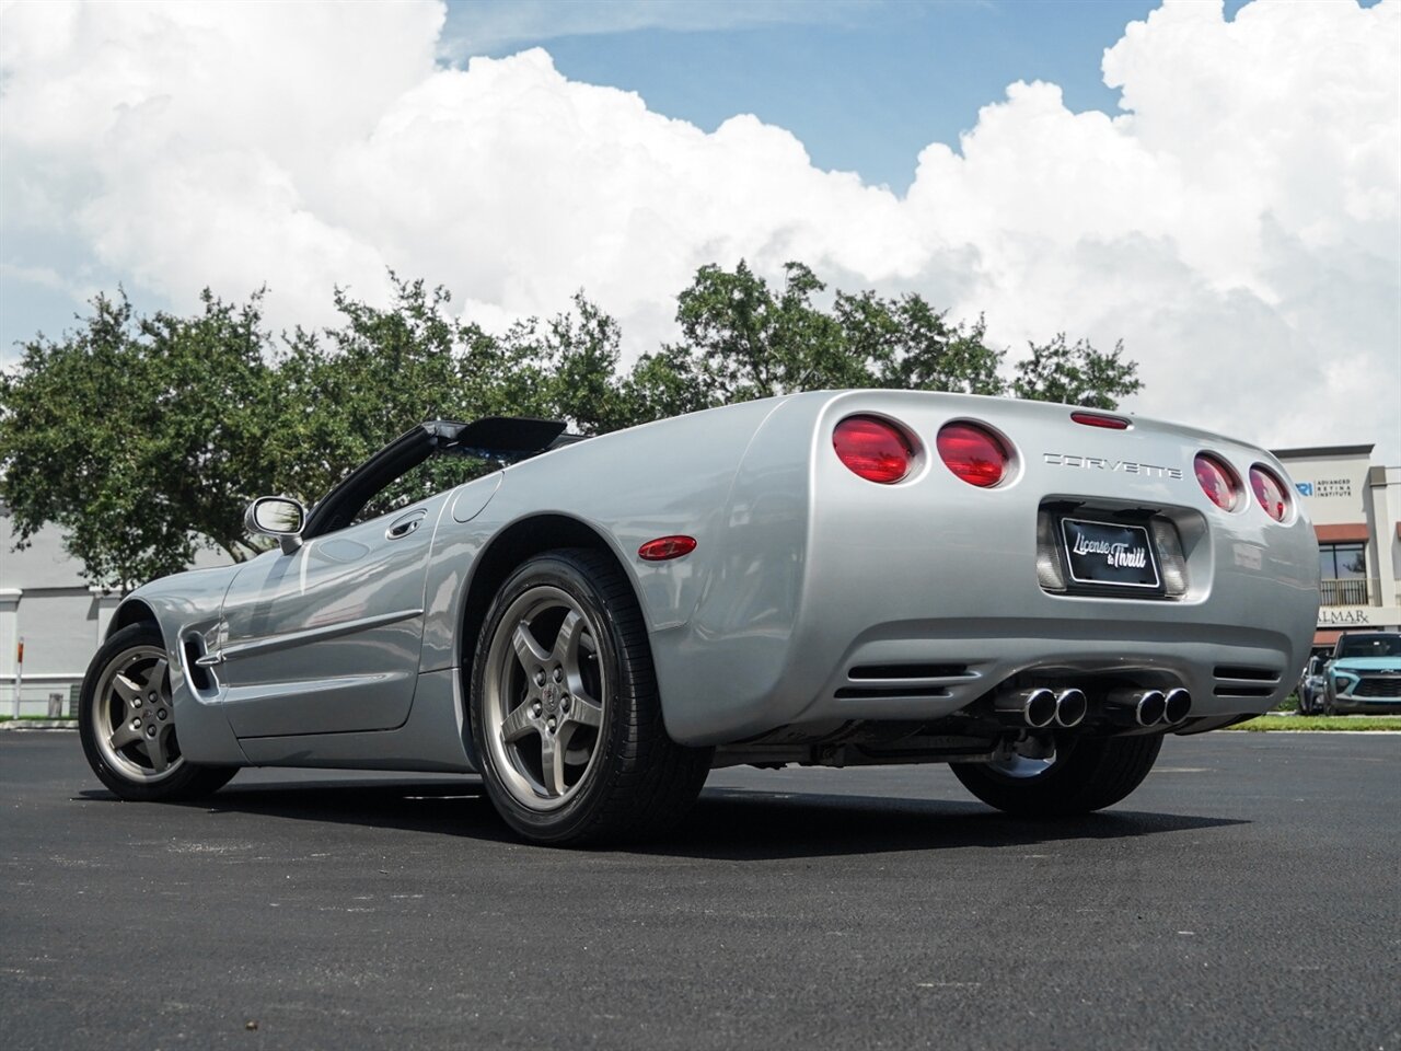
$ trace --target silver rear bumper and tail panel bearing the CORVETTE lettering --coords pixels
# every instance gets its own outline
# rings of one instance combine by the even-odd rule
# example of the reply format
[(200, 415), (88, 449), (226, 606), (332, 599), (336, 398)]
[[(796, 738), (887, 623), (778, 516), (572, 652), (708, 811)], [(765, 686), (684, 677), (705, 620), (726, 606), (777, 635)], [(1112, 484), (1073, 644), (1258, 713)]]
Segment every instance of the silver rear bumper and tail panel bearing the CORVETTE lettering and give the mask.
[[(1281, 524), (1252, 504), (1210, 506), (1191, 475), (1203, 447), (1195, 434), (1119, 433), (1118, 453), (1097, 450), (1110, 439), (1090, 429), (1070, 436), (1104, 462), (1133, 455), (1185, 465), (1185, 476), (1069, 469), (1041, 454), (1065, 446), (1065, 426), (1021, 404), (993, 420), (1016, 436), (1009, 481), (978, 489), (933, 451), (932, 436), (960, 408), (885, 392), (839, 395), (815, 420), (769, 418), (736, 479), (726, 551), (695, 618), (653, 639), (672, 737), (722, 744), (786, 726), (939, 719), (1026, 678), (1089, 687), (1091, 708), (1093, 691), (1115, 682), (1184, 687), (1184, 730), (1265, 712), (1289, 694), (1318, 603), (1317, 542), (1297, 509)], [(874, 485), (832, 455), (831, 429), (850, 412), (885, 413), (923, 439), (906, 481)], [(792, 448), (804, 441), (810, 462), (794, 468)], [(1230, 453), (1243, 476), (1265, 455), (1224, 440), (1208, 447)], [(1185, 593), (1045, 590), (1037, 523), (1048, 504), (1170, 518)]]

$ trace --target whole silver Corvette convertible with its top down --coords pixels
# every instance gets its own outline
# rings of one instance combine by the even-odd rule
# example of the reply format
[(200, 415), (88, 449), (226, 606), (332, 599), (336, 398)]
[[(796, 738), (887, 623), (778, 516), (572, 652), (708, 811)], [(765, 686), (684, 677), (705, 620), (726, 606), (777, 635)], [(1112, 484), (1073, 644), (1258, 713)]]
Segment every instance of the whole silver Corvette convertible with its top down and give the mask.
[[(98, 778), (478, 772), (556, 844), (656, 832), (736, 764), (948, 762), (1002, 810), (1082, 813), (1309, 653), (1313, 528), (1217, 434), (897, 391), (563, 432), (434, 420), (310, 511), (255, 500), (273, 549), (118, 608), (83, 685)], [(499, 469), (385, 510), (461, 455)]]

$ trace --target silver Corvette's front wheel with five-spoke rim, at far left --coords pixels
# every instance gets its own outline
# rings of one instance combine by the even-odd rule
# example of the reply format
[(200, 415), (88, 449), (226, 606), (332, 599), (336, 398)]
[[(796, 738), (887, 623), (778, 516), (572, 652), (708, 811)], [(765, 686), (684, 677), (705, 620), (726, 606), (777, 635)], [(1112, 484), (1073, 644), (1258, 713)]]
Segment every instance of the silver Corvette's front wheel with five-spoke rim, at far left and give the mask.
[(80, 694), (78, 737), (98, 781), (122, 799), (199, 799), (238, 772), (189, 762), (181, 751), (170, 654), (150, 622), (122, 628), (92, 657)]

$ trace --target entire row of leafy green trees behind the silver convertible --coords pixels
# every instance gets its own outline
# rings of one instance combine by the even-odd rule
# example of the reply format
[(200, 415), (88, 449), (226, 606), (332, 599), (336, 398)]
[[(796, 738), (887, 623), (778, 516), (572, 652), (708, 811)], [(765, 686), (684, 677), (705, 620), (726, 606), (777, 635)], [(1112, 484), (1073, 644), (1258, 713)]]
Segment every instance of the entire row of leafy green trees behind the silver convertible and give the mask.
[[(619, 371), (618, 322), (583, 293), (500, 335), (454, 317), (448, 293), (391, 275), (388, 305), (336, 290), (339, 320), (280, 341), (262, 291), (206, 291), (181, 318), (98, 296), (76, 331), (36, 336), (0, 376), (0, 500), (20, 542), (66, 534), (94, 583), (130, 587), (200, 547), (256, 551), (242, 511), (262, 493), (319, 499), (415, 423), (525, 415), (598, 434), (682, 412), (807, 390), (888, 387), (1006, 394), (1005, 352), (982, 318), (951, 324), (920, 296), (827, 296), (799, 262), (772, 289), (740, 262), (702, 266), (677, 300), (681, 338)], [(1016, 367), (1021, 398), (1112, 408), (1139, 390), (1122, 346), (1056, 335)], [(434, 460), (367, 509), (380, 513), (490, 465)]]

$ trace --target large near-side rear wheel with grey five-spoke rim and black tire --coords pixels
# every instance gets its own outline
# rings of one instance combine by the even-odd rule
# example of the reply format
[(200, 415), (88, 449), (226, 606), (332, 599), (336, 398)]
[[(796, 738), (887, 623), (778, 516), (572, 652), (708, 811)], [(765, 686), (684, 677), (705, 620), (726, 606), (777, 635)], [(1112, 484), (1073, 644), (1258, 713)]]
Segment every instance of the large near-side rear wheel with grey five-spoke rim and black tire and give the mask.
[(478, 638), (469, 705), (486, 793), (535, 842), (660, 832), (710, 769), (710, 748), (667, 736), (642, 611), (597, 551), (552, 551), (506, 580)]

